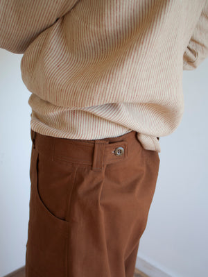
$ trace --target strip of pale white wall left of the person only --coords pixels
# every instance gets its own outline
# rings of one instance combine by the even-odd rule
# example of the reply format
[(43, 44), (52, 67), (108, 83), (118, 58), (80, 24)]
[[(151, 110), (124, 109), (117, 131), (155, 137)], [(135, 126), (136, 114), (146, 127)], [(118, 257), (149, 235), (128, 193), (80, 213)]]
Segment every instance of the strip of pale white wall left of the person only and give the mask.
[(25, 264), (30, 196), (30, 92), (22, 55), (0, 49), (0, 276)]

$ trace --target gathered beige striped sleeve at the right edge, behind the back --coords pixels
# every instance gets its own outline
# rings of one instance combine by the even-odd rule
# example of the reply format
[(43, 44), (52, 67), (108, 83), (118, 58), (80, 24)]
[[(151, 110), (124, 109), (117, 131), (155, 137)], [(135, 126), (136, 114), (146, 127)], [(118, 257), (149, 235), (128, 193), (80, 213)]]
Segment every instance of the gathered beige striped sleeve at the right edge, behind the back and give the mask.
[(208, 56), (208, 0), (193, 31), (183, 56), (183, 69), (193, 70)]

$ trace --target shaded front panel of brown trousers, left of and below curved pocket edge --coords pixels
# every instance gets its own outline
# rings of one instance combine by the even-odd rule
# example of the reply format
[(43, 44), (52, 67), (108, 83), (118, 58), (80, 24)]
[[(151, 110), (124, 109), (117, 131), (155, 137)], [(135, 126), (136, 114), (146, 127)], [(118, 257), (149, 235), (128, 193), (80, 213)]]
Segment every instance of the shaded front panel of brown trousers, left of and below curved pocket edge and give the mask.
[(67, 276), (69, 222), (55, 217), (40, 199), (37, 190), (39, 154), (31, 153), (31, 199), (26, 244), (26, 277)]

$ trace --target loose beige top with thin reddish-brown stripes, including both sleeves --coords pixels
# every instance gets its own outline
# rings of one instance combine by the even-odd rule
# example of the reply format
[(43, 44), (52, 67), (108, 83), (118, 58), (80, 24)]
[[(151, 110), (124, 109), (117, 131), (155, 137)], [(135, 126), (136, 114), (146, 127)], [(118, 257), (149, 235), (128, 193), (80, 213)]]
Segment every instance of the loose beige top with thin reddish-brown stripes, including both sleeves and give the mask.
[(0, 0), (0, 47), (24, 53), (34, 131), (134, 130), (160, 152), (182, 119), (183, 69), (208, 56), (208, 0)]

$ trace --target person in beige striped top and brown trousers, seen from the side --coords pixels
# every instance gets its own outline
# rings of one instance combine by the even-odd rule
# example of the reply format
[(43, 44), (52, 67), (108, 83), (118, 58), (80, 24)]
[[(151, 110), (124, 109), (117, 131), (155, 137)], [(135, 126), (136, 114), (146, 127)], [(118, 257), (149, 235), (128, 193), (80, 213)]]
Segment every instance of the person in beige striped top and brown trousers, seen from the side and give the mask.
[(132, 277), (208, 1), (0, 0), (0, 25), (31, 92), (26, 277)]

